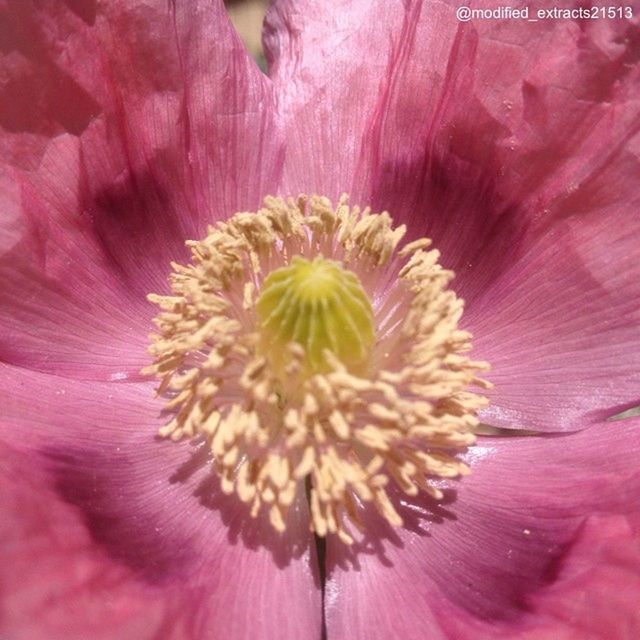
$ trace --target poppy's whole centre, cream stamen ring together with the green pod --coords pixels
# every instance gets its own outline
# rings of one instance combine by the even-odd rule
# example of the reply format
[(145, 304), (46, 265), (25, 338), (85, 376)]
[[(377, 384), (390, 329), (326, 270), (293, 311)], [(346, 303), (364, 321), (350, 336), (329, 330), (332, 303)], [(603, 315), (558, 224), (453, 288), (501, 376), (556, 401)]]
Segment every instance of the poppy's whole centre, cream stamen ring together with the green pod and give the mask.
[(311, 529), (349, 543), (367, 504), (402, 524), (393, 487), (438, 500), (468, 471), (487, 365), (466, 355), (453, 274), (426, 239), (398, 250), (404, 233), (344, 196), (267, 198), (189, 242), (173, 295), (149, 296), (161, 435), (205, 438), (222, 491), (279, 531), (305, 484)]

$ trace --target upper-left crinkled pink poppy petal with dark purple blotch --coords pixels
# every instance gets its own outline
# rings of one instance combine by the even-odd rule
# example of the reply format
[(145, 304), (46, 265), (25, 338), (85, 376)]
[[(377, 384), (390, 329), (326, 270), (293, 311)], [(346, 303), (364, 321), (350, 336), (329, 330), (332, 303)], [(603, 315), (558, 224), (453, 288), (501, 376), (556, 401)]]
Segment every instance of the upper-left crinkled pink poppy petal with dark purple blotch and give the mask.
[(221, 2), (0, 11), (0, 357), (132, 375), (152, 313), (144, 295), (166, 287), (184, 240), (276, 190), (269, 81)]

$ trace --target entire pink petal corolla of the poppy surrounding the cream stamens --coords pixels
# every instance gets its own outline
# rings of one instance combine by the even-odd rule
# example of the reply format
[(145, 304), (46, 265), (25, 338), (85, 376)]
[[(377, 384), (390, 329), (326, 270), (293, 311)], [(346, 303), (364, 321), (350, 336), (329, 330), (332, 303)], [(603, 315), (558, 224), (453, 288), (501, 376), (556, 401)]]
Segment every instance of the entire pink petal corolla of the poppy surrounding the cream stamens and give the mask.
[[(457, 6), (276, 2), (266, 77), (217, 1), (0, 3), (2, 637), (640, 636), (637, 18)], [(208, 224), (343, 192), (433, 240), (517, 437), (317, 545), (304, 491), (280, 533), (155, 437), (146, 295)]]

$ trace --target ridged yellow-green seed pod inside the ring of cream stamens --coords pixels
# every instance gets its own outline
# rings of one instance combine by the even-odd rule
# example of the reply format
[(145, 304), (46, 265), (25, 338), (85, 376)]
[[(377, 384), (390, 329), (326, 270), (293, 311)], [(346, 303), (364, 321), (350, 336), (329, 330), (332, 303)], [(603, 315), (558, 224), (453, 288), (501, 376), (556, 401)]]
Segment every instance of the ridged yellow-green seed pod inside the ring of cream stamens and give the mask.
[(284, 364), (290, 342), (304, 347), (311, 373), (327, 370), (325, 349), (352, 371), (369, 359), (371, 303), (358, 277), (338, 262), (294, 257), (265, 278), (256, 307), (262, 348), (273, 364)]

